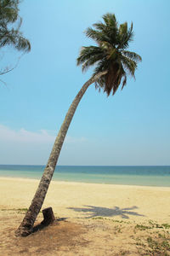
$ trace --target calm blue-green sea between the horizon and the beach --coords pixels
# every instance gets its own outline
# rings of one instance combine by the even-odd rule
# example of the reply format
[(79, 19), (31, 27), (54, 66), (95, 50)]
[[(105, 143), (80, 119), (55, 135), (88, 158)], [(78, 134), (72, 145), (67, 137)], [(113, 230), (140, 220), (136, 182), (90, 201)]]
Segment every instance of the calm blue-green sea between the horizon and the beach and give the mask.
[[(40, 179), (44, 168), (0, 165), (0, 177)], [(169, 187), (170, 166), (56, 166), (53, 180)]]

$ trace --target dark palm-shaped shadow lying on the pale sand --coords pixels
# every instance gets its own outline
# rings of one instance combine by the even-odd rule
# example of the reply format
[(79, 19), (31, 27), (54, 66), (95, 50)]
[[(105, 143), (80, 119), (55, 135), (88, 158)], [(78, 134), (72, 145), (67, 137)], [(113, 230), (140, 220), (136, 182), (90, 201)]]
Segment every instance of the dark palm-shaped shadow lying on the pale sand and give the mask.
[[(106, 207), (93, 207), (93, 206), (84, 206), (86, 208), (76, 208), (76, 207), (68, 207), (68, 209), (74, 210), (75, 212), (87, 212), (88, 217), (85, 218), (94, 218), (94, 217), (113, 217), (120, 216), (122, 218), (129, 218), (128, 215), (133, 216), (144, 216), (139, 214), (138, 212), (132, 212), (134, 209), (138, 209), (138, 207), (127, 207), (127, 208), (106, 208)], [(89, 216), (90, 215), (90, 216)]]

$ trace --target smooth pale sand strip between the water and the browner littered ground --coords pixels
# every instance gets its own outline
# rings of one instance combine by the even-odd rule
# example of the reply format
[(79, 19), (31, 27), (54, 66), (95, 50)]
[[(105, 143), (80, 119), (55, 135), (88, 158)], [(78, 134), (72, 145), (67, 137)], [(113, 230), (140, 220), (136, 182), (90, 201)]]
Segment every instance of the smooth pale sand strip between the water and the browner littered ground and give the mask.
[[(28, 208), (38, 180), (0, 177), (0, 209)], [(43, 207), (60, 218), (170, 223), (170, 188), (52, 181)]]

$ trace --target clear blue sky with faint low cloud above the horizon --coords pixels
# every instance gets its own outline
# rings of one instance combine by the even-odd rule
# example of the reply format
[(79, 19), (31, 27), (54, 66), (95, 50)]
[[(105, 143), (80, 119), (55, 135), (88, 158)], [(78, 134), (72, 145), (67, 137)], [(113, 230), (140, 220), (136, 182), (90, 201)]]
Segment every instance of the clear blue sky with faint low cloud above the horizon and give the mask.
[[(24, 0), (21, 31), (31, 53), (0, 79), (0, 164), (45, 165), (65, 113), (92, 70), (82, 73), (76, 58), (83, 33), (115, 13), (133, 21), (130, 50), (142, 56), (136, 80), (115, 96), (88, 88), (75, 114), (59, 165), (170, 165), (168, 0)], [(1, 49), (1, 67), (13, 67), (21, 53)]]

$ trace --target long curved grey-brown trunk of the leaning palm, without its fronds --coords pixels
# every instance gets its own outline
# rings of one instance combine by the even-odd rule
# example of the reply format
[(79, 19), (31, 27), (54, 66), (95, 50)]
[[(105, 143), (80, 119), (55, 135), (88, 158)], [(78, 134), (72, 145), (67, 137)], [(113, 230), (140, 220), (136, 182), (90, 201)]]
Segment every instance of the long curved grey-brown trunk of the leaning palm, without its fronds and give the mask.
[(105, 71), (105, 72), (98, 73), (97, 75), (89, 79), (85, 84), (83, 84), (82, 89), (78, 92), (74, 101), (71, 103), (71, 107), (66, 113), (65, 120), (61, 125), (58, 136), (55, 139), (54, 147), (48, 159), (48, 164), (45, 167), (44, 172), (42, 174), (42, 178), (38, 185), (37, 192), (34, 195), (33, 200), (31, 201), (31, 206), (26, 212), (26, 216), (23, 219), (22, 223), (20, 224), (20, 227), (18, 228), (18, 230), (15, 231), (16, 236), (28, 236), (29, 234), (31, 234), (33, 224), (37, 218), (37, 214), (41, 210), (42, 203), (47, 194), (48, 186), (53, 177), (54, 169), (57, 164), (57, 160), (59, 158), (60, 150), (65, 140), (66, 132), (68, 131), (69, 125), (71, 124), (71, 119), (73, 118), (73, 115), (77, 109), (78, 103), (81, 101), (82, 96), (84, 95), (85, 91), (88, 89), (88, 86), (90, 84), (93, 84), (95, 80), (98, 80), (105, 73), (107, 72)]

